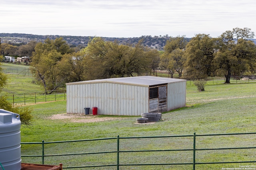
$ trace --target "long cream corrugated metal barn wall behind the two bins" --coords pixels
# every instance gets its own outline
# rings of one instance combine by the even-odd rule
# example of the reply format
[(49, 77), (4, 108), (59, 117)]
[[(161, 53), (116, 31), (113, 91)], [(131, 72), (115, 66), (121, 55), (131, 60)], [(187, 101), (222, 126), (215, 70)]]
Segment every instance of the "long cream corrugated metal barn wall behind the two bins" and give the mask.
[(148, 112), (148, 87), (110, 82), (68, 84), (67, 113), (98, 107), (102, 115), (141, 115)]

